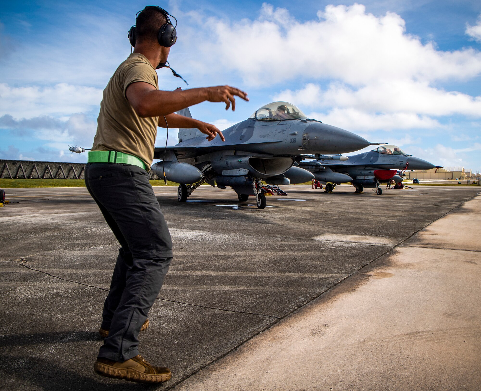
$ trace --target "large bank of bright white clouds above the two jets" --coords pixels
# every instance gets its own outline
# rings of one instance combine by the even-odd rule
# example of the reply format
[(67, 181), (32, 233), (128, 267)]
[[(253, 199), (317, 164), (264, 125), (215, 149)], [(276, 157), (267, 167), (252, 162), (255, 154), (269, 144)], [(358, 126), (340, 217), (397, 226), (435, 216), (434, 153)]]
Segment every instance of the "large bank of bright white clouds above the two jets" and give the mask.
[(423, 43), (396, 13), (375, 16), (362, 4), (328, 5), (299, 21), (264, 3), (254, 20), (194, 19), (210, 33), (204, 28), (190, 36), (204, 59), (199, 63), (197, 54), (193, 68), (237, 74), (255, 87), (300, 81), (302, 87), (284, 88), (272, 100), (290, 101), (323, 122), (367, 132), (442, 128), (440, 118), (451, 115), (481, 117), (481, 96), (440, 87), (481, 75), (481, 52)]

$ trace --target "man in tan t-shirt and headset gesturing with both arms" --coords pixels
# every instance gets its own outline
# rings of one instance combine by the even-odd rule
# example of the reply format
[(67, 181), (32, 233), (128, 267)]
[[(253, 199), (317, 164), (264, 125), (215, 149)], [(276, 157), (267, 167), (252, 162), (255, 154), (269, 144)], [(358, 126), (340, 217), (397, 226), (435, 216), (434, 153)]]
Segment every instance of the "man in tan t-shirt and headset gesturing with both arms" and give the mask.
[[(176, 29), (165, 10), (139, 12), (130, 33), (133, 53), (122, 62), (103, 91), (97, 134), (85, 183), (121, 248), (105, 299), (99, 332), (105, 337), (95, 371), (138, 382), (162, 382), (172, 376), (139, 355), (138, 336), (149, 324), (147, 314), (172, 260), (172, 241), (164, 215), (149, 183), (157, 126), (197, 128), (213, 140), (214, 126), (175, 114), (208, 100), (235, 109), (230, 86), (159, 91), (155, 69), (165, 65)], [(176, 23), (177, 24), (177, 23)], [(165, 116), (165, 119), (164, 119)], [(167, 122), (167, 123), (166, 123)]]

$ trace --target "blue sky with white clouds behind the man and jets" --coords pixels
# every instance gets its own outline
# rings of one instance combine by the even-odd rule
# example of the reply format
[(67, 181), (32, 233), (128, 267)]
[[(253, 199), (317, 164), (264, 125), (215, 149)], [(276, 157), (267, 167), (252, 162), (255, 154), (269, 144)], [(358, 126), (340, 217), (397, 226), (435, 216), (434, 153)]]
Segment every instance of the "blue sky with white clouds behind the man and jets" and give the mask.
[[(101, 92), (130, 53), (127, 30), (147, 4), (1, 2), (0, 159), (86, 160), (67, 144), (91, 146)], [(289, 100), (370, 141), (481, 171), (480, 1), (158, 5), (179, 21), (169, 61), (189, 87), (230, 84), (251, 98), (235, 112), (204, 102), (194, 117), (222, 129)], [(158, 73), (161, 89), (187, 87)], [(165, 143), (163, 129), (156, 143)]]

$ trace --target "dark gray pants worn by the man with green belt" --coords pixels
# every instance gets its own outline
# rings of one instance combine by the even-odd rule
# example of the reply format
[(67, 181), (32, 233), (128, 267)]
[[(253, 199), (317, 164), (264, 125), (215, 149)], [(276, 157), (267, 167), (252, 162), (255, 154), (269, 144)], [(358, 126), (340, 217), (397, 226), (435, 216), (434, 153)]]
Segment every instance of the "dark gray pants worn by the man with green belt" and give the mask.
[(122, 163), (89, 163), (85, 183), (122, 248), (103, 305), (109, 331), (99, 357), (125, 361), (139, 354), (139, 331), (172, 260), (172, 241), (149, 174)]

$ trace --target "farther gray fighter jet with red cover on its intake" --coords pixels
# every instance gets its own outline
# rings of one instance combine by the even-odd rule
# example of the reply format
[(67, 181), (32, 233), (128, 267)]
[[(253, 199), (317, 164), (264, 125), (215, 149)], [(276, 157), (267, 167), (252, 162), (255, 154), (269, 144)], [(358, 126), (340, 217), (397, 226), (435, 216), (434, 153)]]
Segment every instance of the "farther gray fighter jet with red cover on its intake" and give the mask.
[(364, 187), (367, 187), (376, 188), (376, 193), (381, 195), (380, 183), (391, 180), (403, 181), (403, 178), (398, 175), (398, 170), (441, 168), (426, 160), (408, 155), (395, 145), (383, 145), (369, 152), (349, 156), (349, 159), (344, 161), (323, 161), (322, 157), (302, 156), (302, 159), (305, 158), (317, 158), (312, 161), (301, 161), (299, 166), (311, 171), (317, 181), (326, 183), (326, 192), (331, 192), (340, 183), (351, 182), (355, 186), (356, 193), (362, 192)]

